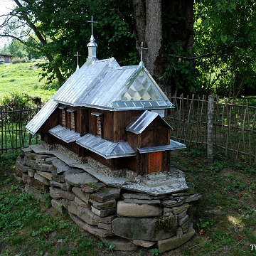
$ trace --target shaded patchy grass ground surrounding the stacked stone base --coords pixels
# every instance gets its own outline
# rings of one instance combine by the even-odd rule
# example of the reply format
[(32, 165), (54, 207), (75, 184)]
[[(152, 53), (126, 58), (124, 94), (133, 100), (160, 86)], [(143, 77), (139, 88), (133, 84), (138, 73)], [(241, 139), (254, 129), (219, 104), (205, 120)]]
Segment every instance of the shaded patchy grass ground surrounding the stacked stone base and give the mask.
[(36, 201), (24, 193), (13, 175), (16, 154), (1, 156), (0, 255), (256, 255), (255, 247), (251, 250), (256, 244), (256, 165), (232, 161), (219, 151), (208, 166), (203, 147), (174, 151), (172, 158), (188, 169), (186, 176), (203, 197), (193, 215), (196, 235), (161, 254), (151, 248), (113, 251), (112, 245), (50, 208), (47, 200)]

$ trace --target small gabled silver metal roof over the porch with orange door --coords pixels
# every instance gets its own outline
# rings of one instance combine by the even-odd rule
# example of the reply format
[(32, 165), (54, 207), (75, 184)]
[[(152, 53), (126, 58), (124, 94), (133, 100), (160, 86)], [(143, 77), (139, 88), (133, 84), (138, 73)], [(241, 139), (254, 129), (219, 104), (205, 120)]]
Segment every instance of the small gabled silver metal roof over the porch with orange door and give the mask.
[[(145, 110), (141, 115), (135, 117), (125, 129), (129, 132), (133, 132), (134, 134), (141, 134), (144, 129), (146, 129), (146, 127), (148, 127), (149, 124), (151, 124), (151, 122), (153, 122), (154, 119), (156, 119), (158, 116), (159, 114), (156, 112)], [(172, 129), (171, 126), (162, 117), (160, 118), (170, 129)]]

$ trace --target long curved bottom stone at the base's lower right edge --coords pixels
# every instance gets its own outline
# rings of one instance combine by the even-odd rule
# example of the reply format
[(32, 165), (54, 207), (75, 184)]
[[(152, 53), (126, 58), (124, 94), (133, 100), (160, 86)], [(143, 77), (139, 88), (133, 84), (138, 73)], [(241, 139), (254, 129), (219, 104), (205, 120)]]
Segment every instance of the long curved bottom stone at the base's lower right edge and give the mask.
[(183, 243), (187, 242), (189, 239), (191, 239), (194, 234), (195, 230), (191, 226), (188, 232), (184, 234), (181, 238), (174, 236), (169, 239), (159, 240), (157, 242), (157, 247), (159, 248), (161, 253), (166, 252), (167, 250), (173, 250), (176, 247), (183, 245)]

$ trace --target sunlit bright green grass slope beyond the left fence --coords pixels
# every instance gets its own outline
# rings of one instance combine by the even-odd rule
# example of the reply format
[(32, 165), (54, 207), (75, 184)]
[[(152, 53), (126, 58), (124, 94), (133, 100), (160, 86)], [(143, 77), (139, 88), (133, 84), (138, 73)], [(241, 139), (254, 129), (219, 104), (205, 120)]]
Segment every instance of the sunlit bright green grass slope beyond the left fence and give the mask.
[(47, 102), (56, 91), (55, 82), (46, 85), (46, 80), (40, 79), (41, 70), (35, 62), (16, 63), (0, 65), (0, 102), (4, 96), (10, 92), (26, 92), (33, 97), (41, 97), (43, 102)]

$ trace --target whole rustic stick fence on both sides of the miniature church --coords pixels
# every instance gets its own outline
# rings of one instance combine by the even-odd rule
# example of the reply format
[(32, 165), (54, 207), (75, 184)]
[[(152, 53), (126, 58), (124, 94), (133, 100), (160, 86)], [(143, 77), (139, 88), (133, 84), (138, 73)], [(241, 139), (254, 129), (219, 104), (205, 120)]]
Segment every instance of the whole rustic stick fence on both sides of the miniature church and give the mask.
[[(208, 99), (206, 96), (169, 97), (175, 109), (169, 110), (174, 131), (171, 139), (191, 144), (207, 145)], [(22, 146), (40, 142), (38, 135), (26, 132), (25, 126), (40, 108), (9, 110), (0, 106), (0, 153), (14, 152)], [(213, 145), (256, 163), (256, 107), (230, 104), (215, 97), (213, 111)]]

